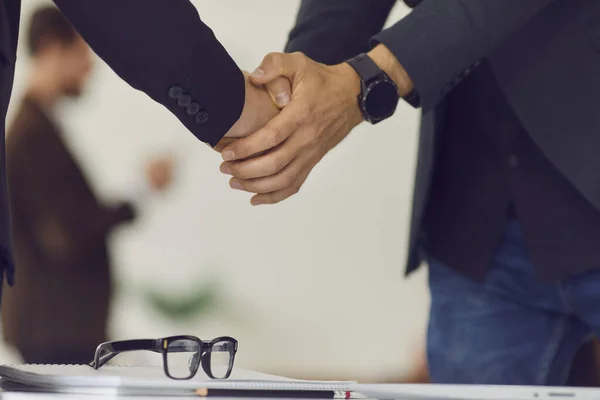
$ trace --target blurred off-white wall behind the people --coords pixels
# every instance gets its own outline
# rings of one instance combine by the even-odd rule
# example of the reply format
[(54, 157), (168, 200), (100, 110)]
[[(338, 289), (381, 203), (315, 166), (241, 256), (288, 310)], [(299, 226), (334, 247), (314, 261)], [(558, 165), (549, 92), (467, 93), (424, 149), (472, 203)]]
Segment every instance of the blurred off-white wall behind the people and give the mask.
[[(23, 2), (22, 29), (42, 3)], [(283, 48), (299, 2), (193, 3), (240, 67), (252, 70)], [(389, 23), (406, 12), (399, 4)], [(13, 105), (28, 61), (21, 51)], [(298, 377), (381, 379), (411, 365), (428, 307), (426, 272), (403, 277), (414, 110), (400, 104), (389, 121), (360, 126), (293, 199), (253, 208), (248, 194), (229, 189), (218, 154), (100, 60), (96, 66), (87, 96), (63, 112), (70, 145), (98, 194), (118, 198), (150, 154), (178, 156), (173, 190), (112, 238), (123, 288), (114, 338), (232, 335), (240, 341), (238, 365)], [(224, 282), (224, 306), (185, 326), (161, 320), (128, 295), (127, 288), (148, 284), (185, 291), (215, 275)], [(365, 346), (369, 340), (376, 345)]]

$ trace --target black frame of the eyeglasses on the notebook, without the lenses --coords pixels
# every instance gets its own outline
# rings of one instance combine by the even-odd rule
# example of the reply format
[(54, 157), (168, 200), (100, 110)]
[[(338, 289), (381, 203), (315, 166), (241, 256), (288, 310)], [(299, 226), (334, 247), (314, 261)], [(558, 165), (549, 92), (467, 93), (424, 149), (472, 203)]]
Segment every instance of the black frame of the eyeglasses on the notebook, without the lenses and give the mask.
[[(200, 349), (199, 354), (196, 353), (192, 356), (193, 364), (190, 365), (190, 376), (184, 378), (174, 377), (169, 372), (169, 363), (167, 360), (167, 355), (169, 353), (176, 353), (176, 349), (170, 348), (169, 344), (179, 340), (189, 340), (198, 344), (198, 348)], [(226, 343), (226, 346), (231, 345), (230, 348), (225, 348), (223, 345)], [(211, 340), (210, 342), (205, 342), (196, 336), (169, 336), (159, 339), (133, 339), (133, 340), (118, 340), (113, 342), (105, 342), (100, 344), (96, 348), (96, 352), (94, 354), (94, 360), (91, 361), (88, 365), (94, 369), (98, 369), (105, 365), (107, 362), (115, 358), (117, 355), (126, 352), (126, 351), (152, 351), (154, 353), (161, 353), (163, 358), (163, 370), (165, 374), (171, 378), (176, 380), (187, 380), (192, 379), (198, 373), (198, 368), (200, 364), (202, 364), (202, 369), (211, 379), (227, 379), (231, 375), (231, 371), (233, 370), (233, 362), (235, 360), (235, 355), (238, 349), (238, 341), (229, 336), (221, 336)], [(215, 378), (210, 367), (210, 360), (213, 351), (229, 351), (229, 365), (227, 367), (227, 372), (225, 376), (220, 378)], [(189, 351), (187, 348), (181, 349), (181, 351)]]

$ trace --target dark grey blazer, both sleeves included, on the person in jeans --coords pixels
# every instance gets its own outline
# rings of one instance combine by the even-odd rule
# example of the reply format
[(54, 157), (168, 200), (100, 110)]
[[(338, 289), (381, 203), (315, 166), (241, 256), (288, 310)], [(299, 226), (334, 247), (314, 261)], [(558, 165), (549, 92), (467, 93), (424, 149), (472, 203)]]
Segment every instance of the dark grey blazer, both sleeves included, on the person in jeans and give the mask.
[(303, 0), (286, 51), (334, 64), (383, 43), (412, 78), (423, 117), (407, 273), (423, 259), (421, 220), (445, 96), (482, 59), (535, 143), (600, 209), (600, 1), (405, 2), (414, 10), (381, 31), (394, 0)]

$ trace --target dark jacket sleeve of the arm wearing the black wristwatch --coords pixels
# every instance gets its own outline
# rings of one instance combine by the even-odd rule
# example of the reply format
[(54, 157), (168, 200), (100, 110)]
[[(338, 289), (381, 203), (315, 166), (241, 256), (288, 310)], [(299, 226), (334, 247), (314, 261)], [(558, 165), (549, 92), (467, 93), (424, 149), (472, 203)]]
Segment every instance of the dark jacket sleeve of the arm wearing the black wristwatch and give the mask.
[(376, 35), (373, 44), (383, 43), (396, 55), (427, 112), (472, 66), (553, 1), (424, 0)]

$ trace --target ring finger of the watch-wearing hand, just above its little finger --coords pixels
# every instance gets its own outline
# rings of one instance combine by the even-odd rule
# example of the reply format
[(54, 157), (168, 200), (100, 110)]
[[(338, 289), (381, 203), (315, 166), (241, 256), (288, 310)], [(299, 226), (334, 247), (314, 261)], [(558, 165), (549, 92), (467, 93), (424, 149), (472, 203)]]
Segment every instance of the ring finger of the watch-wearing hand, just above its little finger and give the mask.
[(271, 193), (292, 186), (298, 180), (303, 166), (309, 157), (297, 157), (287, 167), (276, 174), (258, 179), (231, 178), (229, 186), (232, 189), (251, 193)]

